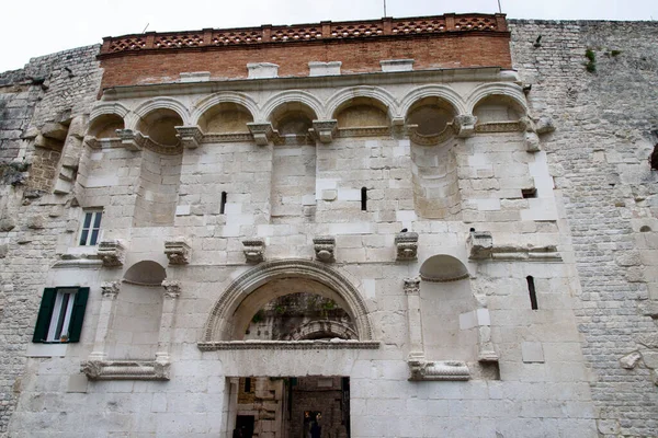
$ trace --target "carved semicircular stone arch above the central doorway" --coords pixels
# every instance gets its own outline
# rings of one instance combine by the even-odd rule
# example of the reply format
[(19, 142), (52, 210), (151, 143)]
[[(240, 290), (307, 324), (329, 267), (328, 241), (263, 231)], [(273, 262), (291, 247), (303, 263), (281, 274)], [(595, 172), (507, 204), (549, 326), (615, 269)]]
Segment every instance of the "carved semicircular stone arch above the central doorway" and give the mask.
[[(279, 289), (279, 284), (284, 287)], [(262, 288), (268, 285), (272, 288)], [(295, 287), (300, 290), (294, 290)], [(226, 288), (208, 315), (202, 342), (231, 341), (236, 330), (241, 336), (262, 304), (308, 287), (314, 288), (314, 293), (334, 299), (350, 314), (359, 341), (373, 339), (367, 307), (359, 290), (342, 274), (318, 262), (283, 260), (249, 269)], [(246, 309), (240, 312), (242, 307)]]

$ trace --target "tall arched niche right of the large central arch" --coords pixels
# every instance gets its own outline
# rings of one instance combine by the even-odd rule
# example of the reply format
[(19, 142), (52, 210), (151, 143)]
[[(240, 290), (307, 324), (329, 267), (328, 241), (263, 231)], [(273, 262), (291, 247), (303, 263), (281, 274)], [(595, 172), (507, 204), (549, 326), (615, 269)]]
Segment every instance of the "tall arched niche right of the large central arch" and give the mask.
[(476, 361), (477, 302), (467, 267), (447, 254), (429, 257), (420, 267), (420, 311), (426, 355), (431, 359)]

